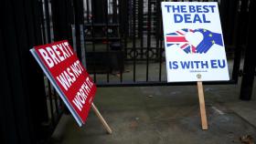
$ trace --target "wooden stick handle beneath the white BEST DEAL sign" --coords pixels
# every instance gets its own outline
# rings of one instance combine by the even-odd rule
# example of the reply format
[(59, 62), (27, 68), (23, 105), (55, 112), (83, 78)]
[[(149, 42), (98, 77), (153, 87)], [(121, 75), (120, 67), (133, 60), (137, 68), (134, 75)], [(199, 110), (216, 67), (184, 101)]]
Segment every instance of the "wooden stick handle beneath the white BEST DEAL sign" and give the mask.
[(200, 106), (200, 113), (201, 113), (201, 122), (202, 122), (202, 129), (208, 129), (208, 119), (206, 114), (206, 107), (205, 107), (205, 98), (204, 98), (204, 89), (202, 81), (197, 81), (197, 89), (198, 89), (198, 98), (199, 98), (199, 106)]

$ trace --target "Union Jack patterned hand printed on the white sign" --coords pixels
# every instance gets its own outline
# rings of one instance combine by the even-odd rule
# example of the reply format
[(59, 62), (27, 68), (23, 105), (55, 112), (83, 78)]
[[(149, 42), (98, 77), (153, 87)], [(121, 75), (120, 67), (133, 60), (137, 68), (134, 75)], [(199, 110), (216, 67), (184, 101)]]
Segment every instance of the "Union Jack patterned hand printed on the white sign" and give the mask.
[(181, 30), (177, 30), (174, 33), (166, 34), (166, 46), (176, 45), (179, 46), (182, 50), (184, 50), (187, 54), (197, 53), (196, 46), (189, 44), (185, 37), (188, 32), (194, 33), (194, 30), (183, 28)]

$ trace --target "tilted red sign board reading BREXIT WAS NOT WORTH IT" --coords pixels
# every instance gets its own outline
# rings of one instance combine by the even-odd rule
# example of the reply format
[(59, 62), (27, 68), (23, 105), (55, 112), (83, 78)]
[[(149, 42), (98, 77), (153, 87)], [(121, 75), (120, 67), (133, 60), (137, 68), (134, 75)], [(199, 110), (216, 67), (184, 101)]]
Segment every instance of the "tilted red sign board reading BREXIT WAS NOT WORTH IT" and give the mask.
[(67, 40), (30, 50), (79, 126), (84, 124), (96, 86)]

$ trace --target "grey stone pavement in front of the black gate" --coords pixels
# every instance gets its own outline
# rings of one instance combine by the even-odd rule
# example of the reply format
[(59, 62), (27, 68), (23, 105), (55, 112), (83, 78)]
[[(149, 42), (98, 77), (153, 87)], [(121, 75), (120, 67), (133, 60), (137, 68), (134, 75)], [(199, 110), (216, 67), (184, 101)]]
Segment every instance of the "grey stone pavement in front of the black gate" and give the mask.
[(63, 115), (51, 144), (240, 144), (256, 141), (256, 87), (241, 101), (238, 85), (204, 86), (208, 130), (201, 129), (197, 86), (100, 87), (94, 104), (111, 126), (107, 134), (91, 110), (86, 124)]

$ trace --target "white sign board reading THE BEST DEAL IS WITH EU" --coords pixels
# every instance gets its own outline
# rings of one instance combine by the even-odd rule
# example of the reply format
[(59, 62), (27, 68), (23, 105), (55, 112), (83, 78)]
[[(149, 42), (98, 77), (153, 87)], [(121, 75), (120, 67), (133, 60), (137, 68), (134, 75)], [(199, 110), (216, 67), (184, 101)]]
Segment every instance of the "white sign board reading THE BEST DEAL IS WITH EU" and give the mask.
[(229, 80), (216, 2), (162, 3), (167, 81)]

